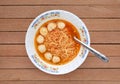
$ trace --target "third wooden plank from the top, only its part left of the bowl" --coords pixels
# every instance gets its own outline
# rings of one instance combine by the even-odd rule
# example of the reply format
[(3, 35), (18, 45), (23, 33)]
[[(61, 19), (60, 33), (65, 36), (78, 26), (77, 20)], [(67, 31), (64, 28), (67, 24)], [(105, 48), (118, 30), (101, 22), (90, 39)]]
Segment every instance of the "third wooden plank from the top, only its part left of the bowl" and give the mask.
[(0, 19), (0, 31), (27, 31), (33, 19)]

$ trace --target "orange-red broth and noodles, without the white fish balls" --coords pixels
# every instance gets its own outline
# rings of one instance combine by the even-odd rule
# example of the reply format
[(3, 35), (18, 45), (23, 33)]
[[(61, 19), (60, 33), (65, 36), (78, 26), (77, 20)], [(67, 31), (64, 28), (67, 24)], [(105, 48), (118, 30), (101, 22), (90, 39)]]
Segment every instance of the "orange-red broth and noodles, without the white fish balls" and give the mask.
[[(60, 29), (58, 28), (58, 26), (56, 26), (56, 28), (52, 31), (48, 31), (47, 26), (49, 23), (55, 23), (57, 25), (58, 22), (63, 22), (65, 24), (65, 27), (63, 29)], [(37, 37), (38, 35), (41, 35), (40, 28), (42, 27), (46, 27), (48, 33), (46, 36), (43, 36), (44, 42), (38, 43)], [(42, 60), (49, 64), (62, 65), (70, 62), (77, 56), (81, 45), (73, 39), (74, 36), (80, 39), (78, 30), (75, 28), (74, 25), (66, 20), (53, 19), (42, 24), (40, 28), (35, 34), (34, 45), (36, 52)], [(38, 46), (41, 44), (45, 45), (46, 47), (46, 51), (44, 53), (41, 53), (38, 49)], [(45, 58), (45, 53), (47, 52), (51, 53), (52, 59), (53, 56), (58, 56), (60, 58), (60, 61), (58, 63), (53, 63), (52, 59), (47, 60)]]

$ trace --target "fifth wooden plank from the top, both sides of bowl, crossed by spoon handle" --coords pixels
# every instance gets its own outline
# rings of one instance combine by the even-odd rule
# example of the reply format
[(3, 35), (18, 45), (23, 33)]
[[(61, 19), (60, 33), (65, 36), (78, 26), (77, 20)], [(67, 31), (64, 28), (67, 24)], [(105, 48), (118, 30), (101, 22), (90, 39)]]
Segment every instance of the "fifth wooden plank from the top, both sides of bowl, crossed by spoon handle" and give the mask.
[[(92, 45), (96, 50), (105, 55), (120, 56), (120, 45)], [(25, 57), (27, 56), (24, 45), (0, 45), (0, 57)], [(89, 56), (93, 56), (89, 54)]]

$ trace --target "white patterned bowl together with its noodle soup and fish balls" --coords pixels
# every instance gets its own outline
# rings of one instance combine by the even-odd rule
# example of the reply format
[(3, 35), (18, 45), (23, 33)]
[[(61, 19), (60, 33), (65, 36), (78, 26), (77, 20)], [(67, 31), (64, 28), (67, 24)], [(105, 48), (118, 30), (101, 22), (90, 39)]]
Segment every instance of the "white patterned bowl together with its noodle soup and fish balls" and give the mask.
[(69, 73), (77, 69), (88, 54), (88, 50), (73, 39), (74, 36), (90, 45), (88, 30), (76, 15), (64, 10), (44, 12), (27, 30), (28, 57), (46, 73)]

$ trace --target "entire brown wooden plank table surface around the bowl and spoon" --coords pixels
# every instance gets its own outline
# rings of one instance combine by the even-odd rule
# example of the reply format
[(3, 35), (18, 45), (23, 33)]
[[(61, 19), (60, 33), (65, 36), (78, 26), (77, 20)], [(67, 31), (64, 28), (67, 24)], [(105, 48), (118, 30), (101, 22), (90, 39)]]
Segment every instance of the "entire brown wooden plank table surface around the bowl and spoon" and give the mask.
[[(79, 16), (90, 31), (91, 46), (109, 63), (89, 54), (77, 70), (60, 76), (38, 70), (25, 50), (31, 21), (47, 10)], [(0, 84), (120, 84), (120, 0), (1, 0)]]

